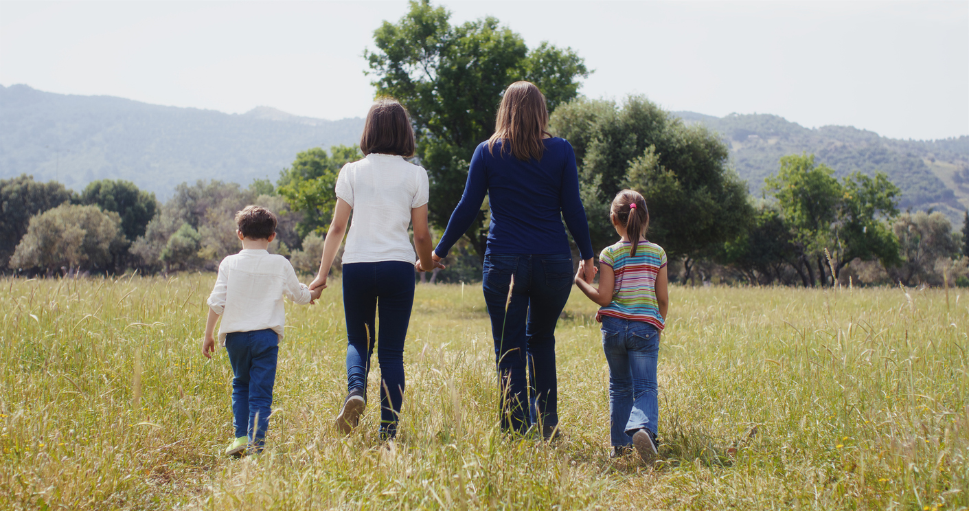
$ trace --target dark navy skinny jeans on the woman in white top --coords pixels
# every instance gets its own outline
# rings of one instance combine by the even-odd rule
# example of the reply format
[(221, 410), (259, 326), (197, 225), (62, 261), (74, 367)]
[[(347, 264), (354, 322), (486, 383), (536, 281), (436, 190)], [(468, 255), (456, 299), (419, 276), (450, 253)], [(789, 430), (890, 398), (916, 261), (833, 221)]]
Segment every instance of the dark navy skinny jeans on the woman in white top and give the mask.
[[(343, 265), (343, 310), (347, 317), (347, 390), (366, 396), (370, 355), (380, 309), (380, 431), (393, 437), (404, 396), (404, 338), (414, 306), (414, 264), (401, 261)], [(369, 332), (369, 338), (367, 333)]]

